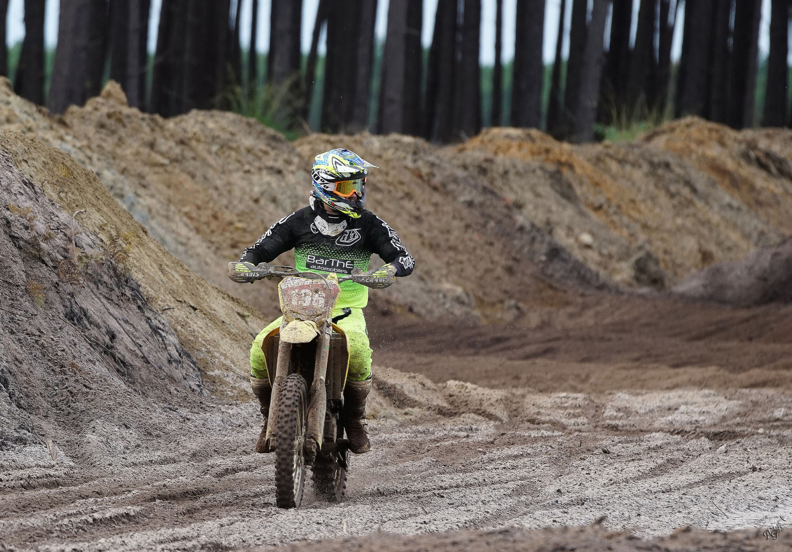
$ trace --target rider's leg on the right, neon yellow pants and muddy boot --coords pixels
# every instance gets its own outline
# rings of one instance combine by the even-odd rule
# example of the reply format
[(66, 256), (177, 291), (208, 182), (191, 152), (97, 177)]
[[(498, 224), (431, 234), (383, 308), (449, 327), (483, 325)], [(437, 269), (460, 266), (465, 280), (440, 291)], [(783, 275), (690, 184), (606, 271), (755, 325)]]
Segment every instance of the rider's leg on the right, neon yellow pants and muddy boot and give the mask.
[(368, 343), (363, 309), (352, 309), (349, 316), (338, 321), (349, 338), (349, 371), (344, 388), (344, 422), (349, 448), (355, 454), (371, 450), (366, 424), (366, 398), (371, 391), (371, 347)]

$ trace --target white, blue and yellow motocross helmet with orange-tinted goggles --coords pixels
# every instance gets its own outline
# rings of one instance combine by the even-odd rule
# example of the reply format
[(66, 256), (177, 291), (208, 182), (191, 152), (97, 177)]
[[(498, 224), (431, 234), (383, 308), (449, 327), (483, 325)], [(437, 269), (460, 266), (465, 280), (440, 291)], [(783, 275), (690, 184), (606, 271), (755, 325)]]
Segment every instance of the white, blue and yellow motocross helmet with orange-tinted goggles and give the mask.
[(366, 205), (366, 178), (370, 168), (379, 167), (360, 159), (360, 155), (348, 149), (337, 148), (320, 153), (310, 171), (314, 184), (311, 194), (339, 213), (358, 218)]

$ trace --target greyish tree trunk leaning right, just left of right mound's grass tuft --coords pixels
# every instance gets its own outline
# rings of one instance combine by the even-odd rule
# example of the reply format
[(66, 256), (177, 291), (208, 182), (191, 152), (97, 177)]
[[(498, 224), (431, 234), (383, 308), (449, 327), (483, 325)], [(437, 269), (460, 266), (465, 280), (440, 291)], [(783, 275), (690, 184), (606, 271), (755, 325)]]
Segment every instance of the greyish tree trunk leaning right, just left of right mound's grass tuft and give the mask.
[(592, 20), (588, 25), (581, 63), (581, 86), (575, 110), (574, 138), (576, 142), (590, 142), (594, 136), (596, 105), (600, 96), (600, 79), (605, 62), (603, 42), (605, 22), (610, 0), (594, 0)]

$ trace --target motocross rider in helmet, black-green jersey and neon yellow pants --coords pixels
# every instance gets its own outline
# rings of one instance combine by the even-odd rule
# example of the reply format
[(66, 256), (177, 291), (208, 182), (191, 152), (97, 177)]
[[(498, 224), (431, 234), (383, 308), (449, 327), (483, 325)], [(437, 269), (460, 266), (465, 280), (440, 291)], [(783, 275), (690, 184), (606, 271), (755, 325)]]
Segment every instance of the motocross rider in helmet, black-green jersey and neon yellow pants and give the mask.
[[(310, 205), (272, 224), (264, 236), (242, 253), (236, 270), (243, 273), (252, 268), (251, 265), (270, 263), (293, 248), (295, 264), (300, 271), (352, 274), (353, 269), (368, 270), (371, 254), (376, 253), (387, 264), (367, 274), (387, 278), (390, 283), (396, 277), (409, 276), (415, 266), (413, 256), (384, 220), (364, 209), (370, 168), (377, 167), (347, 149), (333, 149), (317, 155), (311, 170)], [(241, 276), (234, 278), (233, 274), (230, 278), (234, 282), (248, 281)], [(333, 322), (349, 338), (349, 369), (341, 421), (346, 428), (349, 448), (356, 454), (371, 450), (366, 397), (371, 390), (372, 351), (363, 316), (367, 302), (367, 287), (356, 282), (342, 282), (341, 295), (333, 311)], [(256, 443), (256, 451), (261, 453), (271, 452), (265, 445), (265, 435), (272, 395), (261, 344), (269, 332), (280, 326), (280, 321), (281, 318), (273, 320), (261, 330), (250, 349), (250, 386), (264, 416)]]

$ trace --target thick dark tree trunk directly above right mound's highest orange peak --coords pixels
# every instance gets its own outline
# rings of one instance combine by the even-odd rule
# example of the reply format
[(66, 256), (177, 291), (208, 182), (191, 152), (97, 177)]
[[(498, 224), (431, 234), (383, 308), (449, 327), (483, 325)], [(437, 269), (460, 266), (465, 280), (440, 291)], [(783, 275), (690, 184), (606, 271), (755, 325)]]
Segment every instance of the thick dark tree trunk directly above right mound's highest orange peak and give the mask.
[(676, 86), (676, 116), (702, 115), (708, 95), (714, 0), (687, 0)]

